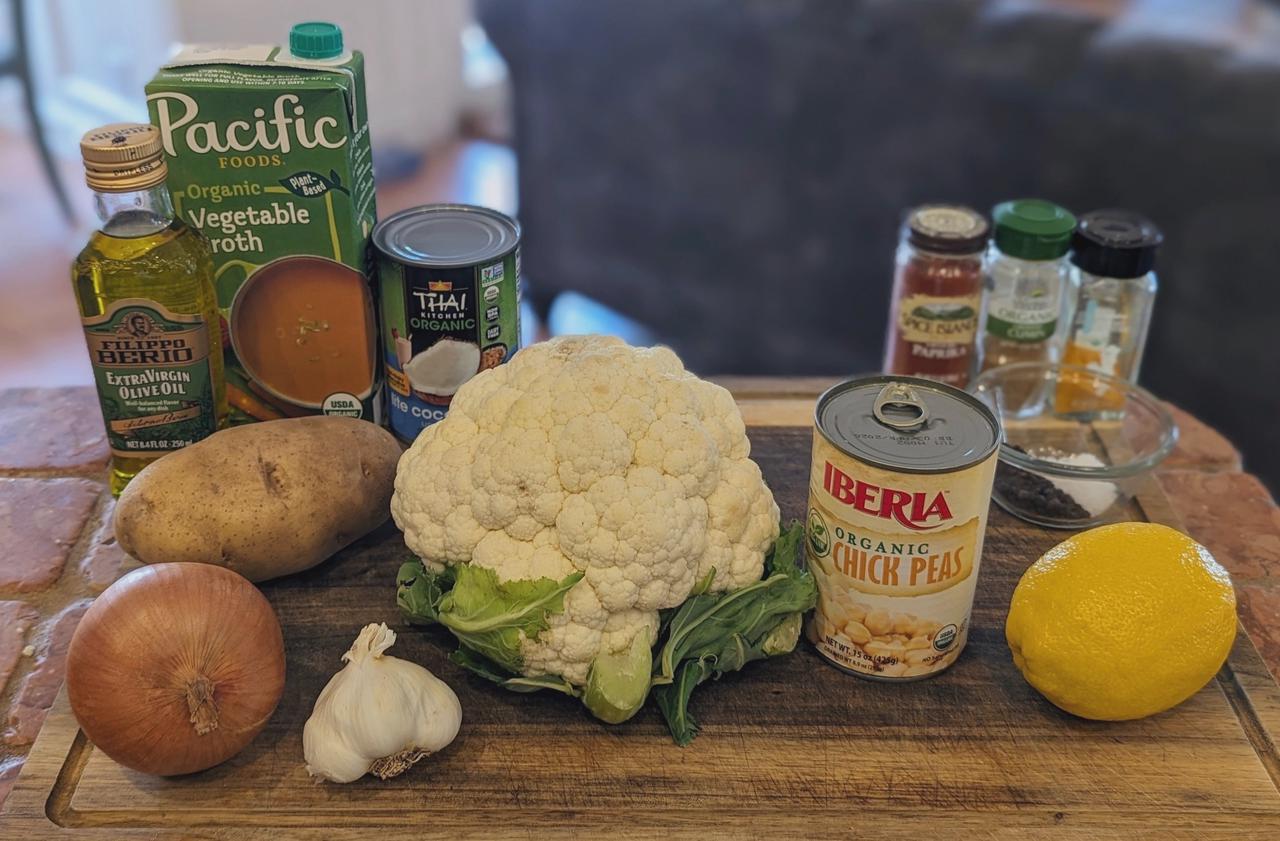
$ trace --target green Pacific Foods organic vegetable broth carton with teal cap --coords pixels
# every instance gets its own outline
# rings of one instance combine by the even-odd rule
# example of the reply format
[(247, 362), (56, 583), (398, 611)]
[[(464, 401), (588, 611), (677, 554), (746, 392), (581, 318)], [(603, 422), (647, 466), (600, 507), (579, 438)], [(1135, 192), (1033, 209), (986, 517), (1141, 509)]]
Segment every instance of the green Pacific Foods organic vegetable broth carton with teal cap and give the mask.
[(364, 56), (298, 24), (289, 47), (188, 47), (146, 91), (175, 210), (212, 246), (232, 422), (378, 422)]

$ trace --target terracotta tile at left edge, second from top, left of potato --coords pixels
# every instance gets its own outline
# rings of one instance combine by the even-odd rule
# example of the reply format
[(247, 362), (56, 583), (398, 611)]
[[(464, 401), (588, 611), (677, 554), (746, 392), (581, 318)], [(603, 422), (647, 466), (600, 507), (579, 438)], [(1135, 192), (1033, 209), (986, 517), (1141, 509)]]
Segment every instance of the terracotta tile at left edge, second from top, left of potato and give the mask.
[(101, 493), (86, 479), (0, 479), (0, 591), (56, 581)]

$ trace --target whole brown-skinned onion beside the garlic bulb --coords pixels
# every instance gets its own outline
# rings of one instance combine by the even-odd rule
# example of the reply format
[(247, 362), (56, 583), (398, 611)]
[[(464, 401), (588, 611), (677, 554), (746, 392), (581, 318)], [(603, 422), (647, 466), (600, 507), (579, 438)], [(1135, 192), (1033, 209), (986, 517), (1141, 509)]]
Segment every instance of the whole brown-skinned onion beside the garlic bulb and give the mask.
[(67, 653), (84, 735), (127, 768), (174, 776), (248, 745), (284, 693), (284, 639), (266, 598), (230, 570), (156, 563), (97, 597)]

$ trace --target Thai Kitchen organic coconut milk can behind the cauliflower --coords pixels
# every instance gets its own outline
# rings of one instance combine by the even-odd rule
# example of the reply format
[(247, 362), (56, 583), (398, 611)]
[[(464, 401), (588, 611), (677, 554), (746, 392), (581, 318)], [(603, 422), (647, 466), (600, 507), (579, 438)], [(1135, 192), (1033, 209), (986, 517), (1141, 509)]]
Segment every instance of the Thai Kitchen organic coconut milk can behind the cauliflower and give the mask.
[(454, 393), (520, 347), (520, 225), (486, 207), (428, 205), (378, 224), (392, 430), (411, 443)]

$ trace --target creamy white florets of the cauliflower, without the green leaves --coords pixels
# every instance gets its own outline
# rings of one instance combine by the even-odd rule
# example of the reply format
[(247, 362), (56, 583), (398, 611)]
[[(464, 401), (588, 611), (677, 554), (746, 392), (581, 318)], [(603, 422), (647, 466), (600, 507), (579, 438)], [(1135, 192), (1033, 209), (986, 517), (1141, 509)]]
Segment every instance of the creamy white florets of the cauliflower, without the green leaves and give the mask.
[(576, 576), (520, 632), (518, 668), (582, 687), (598, 658), (648, 652), (695, 586), (759, 581), (778, 507), (749, 456), (733, 398), (672, 351), (564, 337), (458, 389), (401, 458), (392, 516), (434, 571)]

